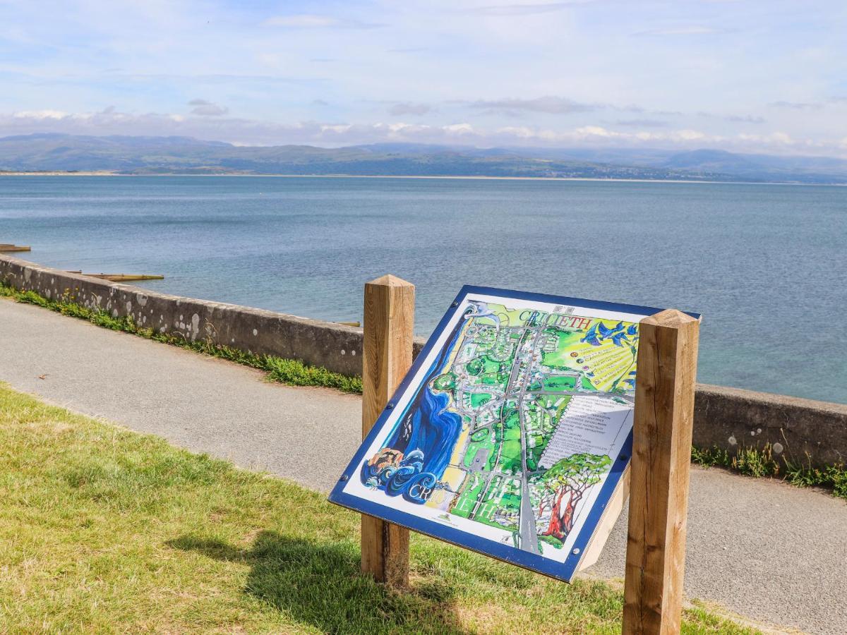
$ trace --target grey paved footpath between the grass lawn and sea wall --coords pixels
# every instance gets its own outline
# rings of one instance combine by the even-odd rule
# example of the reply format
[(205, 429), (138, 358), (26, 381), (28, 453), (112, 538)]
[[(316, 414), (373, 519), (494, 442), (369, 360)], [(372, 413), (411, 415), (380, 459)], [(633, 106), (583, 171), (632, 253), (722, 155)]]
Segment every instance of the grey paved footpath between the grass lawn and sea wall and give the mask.
[[(40, 378), (44, 376), (44, 378)], [(360, 437), (361, 400), (0, 298), (0, 381), (189, 450), (328, 490)], [(595, 575), (623, 577), (626, 520)], [(847, 503), (695, 467), (685, 590), (741, 616), (847, 632)]]

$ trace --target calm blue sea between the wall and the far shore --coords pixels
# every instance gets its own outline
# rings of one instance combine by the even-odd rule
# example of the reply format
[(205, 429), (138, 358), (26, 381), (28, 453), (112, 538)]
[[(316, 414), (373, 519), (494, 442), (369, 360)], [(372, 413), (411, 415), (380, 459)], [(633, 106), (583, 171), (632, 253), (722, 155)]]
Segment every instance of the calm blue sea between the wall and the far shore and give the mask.
[[(462, 284), (703, 314), (700, 381), (847, 403), (847, 189), (466, 179), (0, 177), (0, 242), (152, 290), (427, 335)], [(2, 337), (2, 334), (0, 334)]]

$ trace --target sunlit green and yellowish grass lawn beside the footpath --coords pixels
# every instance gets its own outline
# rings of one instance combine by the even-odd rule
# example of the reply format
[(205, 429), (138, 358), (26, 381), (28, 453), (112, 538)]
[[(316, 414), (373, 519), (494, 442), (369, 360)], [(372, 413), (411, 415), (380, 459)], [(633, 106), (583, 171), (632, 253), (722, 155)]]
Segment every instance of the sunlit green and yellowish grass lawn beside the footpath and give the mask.
[[(335, 469), (335, 467), (328, 467)], [(622, 597), (412, 537), (358, 572), (359, 517), (0, 384), (0, 632), (619, 632)], [(686, 610), (684, 632), (753, 632)]]

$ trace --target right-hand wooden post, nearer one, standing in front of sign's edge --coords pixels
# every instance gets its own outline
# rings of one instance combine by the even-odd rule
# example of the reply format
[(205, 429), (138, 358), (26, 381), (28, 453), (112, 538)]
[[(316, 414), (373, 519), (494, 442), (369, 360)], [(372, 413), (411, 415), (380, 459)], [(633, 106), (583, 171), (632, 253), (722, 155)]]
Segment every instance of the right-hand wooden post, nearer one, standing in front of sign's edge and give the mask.
[(639, 326), (623, 633), (678, 633), (700, 322), (668, 310)]

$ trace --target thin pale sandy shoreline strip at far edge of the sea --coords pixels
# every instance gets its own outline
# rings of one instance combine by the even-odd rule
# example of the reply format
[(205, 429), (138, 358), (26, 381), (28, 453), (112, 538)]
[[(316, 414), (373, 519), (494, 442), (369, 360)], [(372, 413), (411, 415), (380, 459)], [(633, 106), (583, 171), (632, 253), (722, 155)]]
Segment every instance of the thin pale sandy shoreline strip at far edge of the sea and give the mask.
[(262, 177), (265, 179), (456, 179), (456, 180), (497, 180), (497, 181), (590, 181), (600, 183), (683, 183), (704, 185), (806, 185), (818, 187), (847, 187), (847, 183), (805, 183), (802, 181), (743, 181), (743, 180), (713, 180), (713, 179), (622, 179), (610, 177), (602, 179), (588, 176), (484, 176), (462, 174), (247, 174), (244, 172), (226, 172), (219, 174), (128, 174), (111, 170), (92, 171), (53, 171), (43, 172), (8, 172), (0, 171), (3, 176), (123, 176), (123, 177)]

